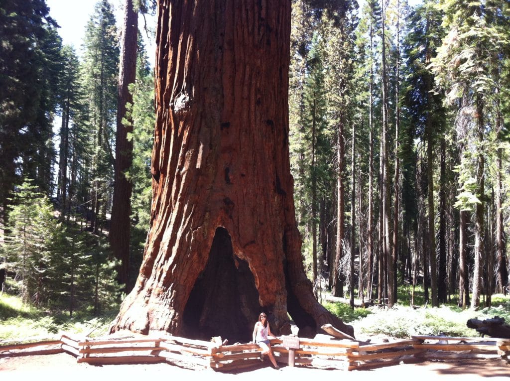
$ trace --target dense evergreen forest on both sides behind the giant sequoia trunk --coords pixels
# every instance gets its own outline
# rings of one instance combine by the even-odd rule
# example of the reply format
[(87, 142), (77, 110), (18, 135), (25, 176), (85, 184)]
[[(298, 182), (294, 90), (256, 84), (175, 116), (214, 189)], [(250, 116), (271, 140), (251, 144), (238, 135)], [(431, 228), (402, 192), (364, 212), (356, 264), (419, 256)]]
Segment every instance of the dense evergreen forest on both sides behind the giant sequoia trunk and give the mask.
[[(134, 6), (152, 12), (155, 2)], [(317, 296), (335, 278), (339, 296), (347, 286), (350, 297), (356, 289), (380, 304), (397, 295), (463, 306), (472, 293), (478, 308), (507, 293), (508, 3), (292, 6), (290, 161)], [(58, 33), (44, 0), (0, 4), (0, 266), (7, 292), (25, 302), (99, 314), (119, 297), (107, 243), (119, 74), (111, 3), (100, 0), (90, 15), (83, 57)], [(141, 38), (138, 52), (123, 121), (133, 127), (129, 287), (150, 221), (155, 124)], [(395, 251), (385, 252), (387, 243)], [(409, 295), (396, 293), (402, 284)]]

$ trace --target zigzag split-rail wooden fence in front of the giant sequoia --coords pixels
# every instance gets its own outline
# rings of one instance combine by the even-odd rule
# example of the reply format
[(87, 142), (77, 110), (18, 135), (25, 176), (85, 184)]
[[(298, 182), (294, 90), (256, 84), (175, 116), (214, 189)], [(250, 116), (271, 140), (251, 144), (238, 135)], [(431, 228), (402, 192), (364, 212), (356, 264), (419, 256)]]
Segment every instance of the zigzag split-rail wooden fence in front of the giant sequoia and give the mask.
[[(401, 361), (496, 358), (510, 362), (510, 339), (413, 336), (407, 340), (370, 344), (328, 335), (299, 338), (299, 348), (286, 348), (282, 338), (271, 340), (276, 361), (323, 369), (364, 369)], [(156, 337), (88, 338), (62, 335), (59, 340), (0, 345), (0, 358), (67, 352), (79, 363), (185, 363), (222, 371), (250, 368), (262, 361), (256, 344), (223, 345), (171, 335)], [(289, 352), (291, 358), (289, 358)], [(293, 361), (292, 361), (293, 360)], [(267, 361), (267, 360), (266, 360)]]

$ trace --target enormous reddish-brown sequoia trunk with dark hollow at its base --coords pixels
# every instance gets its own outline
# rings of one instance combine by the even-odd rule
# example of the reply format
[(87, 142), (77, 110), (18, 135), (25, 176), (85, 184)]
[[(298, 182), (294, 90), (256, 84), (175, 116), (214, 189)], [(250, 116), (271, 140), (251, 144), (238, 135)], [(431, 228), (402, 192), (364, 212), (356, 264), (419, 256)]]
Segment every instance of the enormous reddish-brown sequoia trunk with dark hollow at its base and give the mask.
[(352, 327), (314, 298), (288, 148), (291, 2), (160, 0), (150, 230), (127, 328), (249, 340), (261, 311)]

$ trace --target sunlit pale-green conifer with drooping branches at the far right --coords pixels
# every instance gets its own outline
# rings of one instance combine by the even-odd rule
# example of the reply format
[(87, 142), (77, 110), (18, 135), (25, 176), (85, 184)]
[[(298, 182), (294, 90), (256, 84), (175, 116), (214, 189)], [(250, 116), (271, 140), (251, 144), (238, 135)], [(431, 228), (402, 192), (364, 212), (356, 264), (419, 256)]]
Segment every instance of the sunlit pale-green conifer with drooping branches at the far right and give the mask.
[[(465, 192), (460, 195), (458, 204), (466, 208), (468, 204), (474, 209), (474, 269), (473, 296), (471, 308), (477, 308), (480, 302), (483, 258), (485, 256), (486, 233), (486, 157), (487, 157), (487, 120), (491, 105), (489, 95), (494, 86), (494, 66), (507, 57), (508, 25), (501, 12), (501, 4), (491, 1), (473, 1), (465, 3), (457, 0), (442, 4), (443, 25), (450, 30), (443, 39), (438, 56), (433, 60), (433, 70), (438, 83), (447, 89), (450, 102), (458, 98), (465, 99), (461, 113), (472, 115), (466, 123), (468, 130), (463, 132), (470, 144), (473, 142), (472, 157), (463, 171)], [(498, 57), (497, 60), (494, 60)], [(461, 197), (462, 196), (462, 197)], [(461, 198), (468, 199), (466, 204)], [(491, 270), (492, 271), (492, 270)], [(490, 299), (488, 300), (490, 302)]]

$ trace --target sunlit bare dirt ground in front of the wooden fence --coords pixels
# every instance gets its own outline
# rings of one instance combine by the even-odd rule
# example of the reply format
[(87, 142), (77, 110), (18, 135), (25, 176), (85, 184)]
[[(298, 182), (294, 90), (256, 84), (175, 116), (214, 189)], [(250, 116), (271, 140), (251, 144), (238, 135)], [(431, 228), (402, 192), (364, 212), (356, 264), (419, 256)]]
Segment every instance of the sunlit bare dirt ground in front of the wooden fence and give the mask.
[[(282, 366), (275, 370), (268, 360), (260, 366), (238, 373), (224, 373), (212, 369), (191, 369), (168, 363), (160, 364), (136, 364), (136, 365), (90, 365), (78, 363), (76, 358), (68, 353), (27, 355), (21, 357), (0, 358), (0, 377), (5, 376), (37, 377), (41, 379), (87, 379), (114, 381), (128, 381), (132, 379), (151, 379), (155, 376), (168, 379), (196, 379), (228, 381), (242, 377), (243, 380), (411, 380), (429, 379), (441, 381), (462, 379), (470, 380), (508, 380), (510, 377), (510, 365), (500, 360), (470, 360), (455, 362), (431, 362), (418, 364), (400, 364), (384, 368), (370, 370), (323, 370), (305, 367)], [(12, 379), (12, 378), (9, 379)], [(72, 378), (71, 378), (72, 377)], [(113, 378), (115, 377), (115, 378)], [(171, 378), (170, 378), (171, 377)], [(162, 379), (162, 378), (161, 378)]]

